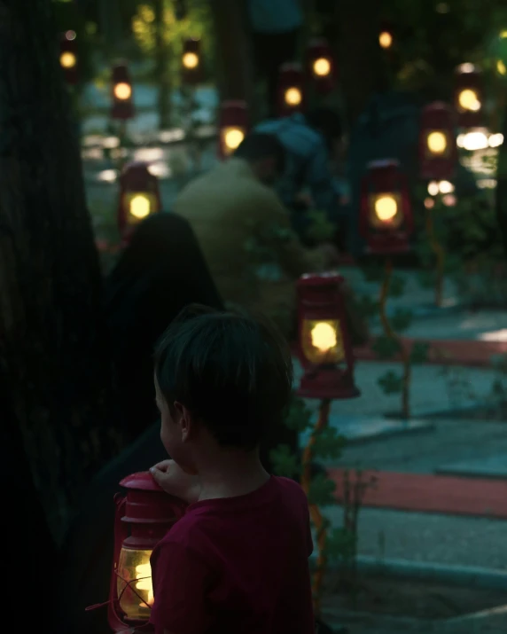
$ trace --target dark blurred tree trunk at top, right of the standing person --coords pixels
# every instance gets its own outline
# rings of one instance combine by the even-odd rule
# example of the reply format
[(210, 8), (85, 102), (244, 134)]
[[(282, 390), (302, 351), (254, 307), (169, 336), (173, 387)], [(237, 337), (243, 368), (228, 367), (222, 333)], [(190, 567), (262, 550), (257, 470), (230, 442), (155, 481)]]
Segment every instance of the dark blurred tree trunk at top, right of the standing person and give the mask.
[(335, 4), (339, 82), (350, 125), (386, 82), (378, 46), (380, 5), (378, 0), (341, 0)]

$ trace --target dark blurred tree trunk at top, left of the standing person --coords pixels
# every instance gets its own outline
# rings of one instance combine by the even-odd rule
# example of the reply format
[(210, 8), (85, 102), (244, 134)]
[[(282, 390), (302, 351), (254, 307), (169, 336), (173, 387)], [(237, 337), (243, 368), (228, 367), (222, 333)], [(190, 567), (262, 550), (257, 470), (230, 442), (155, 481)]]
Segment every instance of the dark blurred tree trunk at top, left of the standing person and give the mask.
[(210, 0), (217, 47), (220, 98), (254, 102), (253, 68), (244, 0)]

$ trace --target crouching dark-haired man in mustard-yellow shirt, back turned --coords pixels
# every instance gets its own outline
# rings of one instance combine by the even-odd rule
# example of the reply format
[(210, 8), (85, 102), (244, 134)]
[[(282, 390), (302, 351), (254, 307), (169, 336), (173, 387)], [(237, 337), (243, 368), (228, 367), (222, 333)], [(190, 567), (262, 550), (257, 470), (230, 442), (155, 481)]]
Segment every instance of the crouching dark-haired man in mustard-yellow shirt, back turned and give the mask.
[(274, 190), (285, 168), (276, 137), (253, 133), (232, 158), (188, 184), (173, 210), (190, 224), (224, 301), (296, 325), (295, 280), (338, 262), (331, 244), (302, 247)]

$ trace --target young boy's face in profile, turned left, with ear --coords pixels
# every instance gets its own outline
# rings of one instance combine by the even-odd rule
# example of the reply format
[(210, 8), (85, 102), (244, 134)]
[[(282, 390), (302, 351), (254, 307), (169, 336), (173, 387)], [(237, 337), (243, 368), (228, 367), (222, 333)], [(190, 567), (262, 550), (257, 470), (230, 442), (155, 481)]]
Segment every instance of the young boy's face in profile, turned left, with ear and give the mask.
[(169, 456), (187, 474), (197, 474), (191, 457), (191, 421), (188, 412), (180, 403), (175, 403), (175, 418), (171, 416), (166, 399), (160, 393), (159, 384), (155, 378), (155, 395), (160, 411), (160, 440)]

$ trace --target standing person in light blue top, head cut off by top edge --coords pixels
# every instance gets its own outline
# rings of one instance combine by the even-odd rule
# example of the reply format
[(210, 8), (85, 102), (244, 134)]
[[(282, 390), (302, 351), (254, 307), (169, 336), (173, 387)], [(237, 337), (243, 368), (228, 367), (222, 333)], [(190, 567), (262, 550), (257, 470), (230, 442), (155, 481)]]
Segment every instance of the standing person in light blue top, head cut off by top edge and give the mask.
[(301, 0), (248, 0), (253, 59), (267, 83), (269, 116), (277, 114), (278, 72), (297, 59), (303, 26)]

